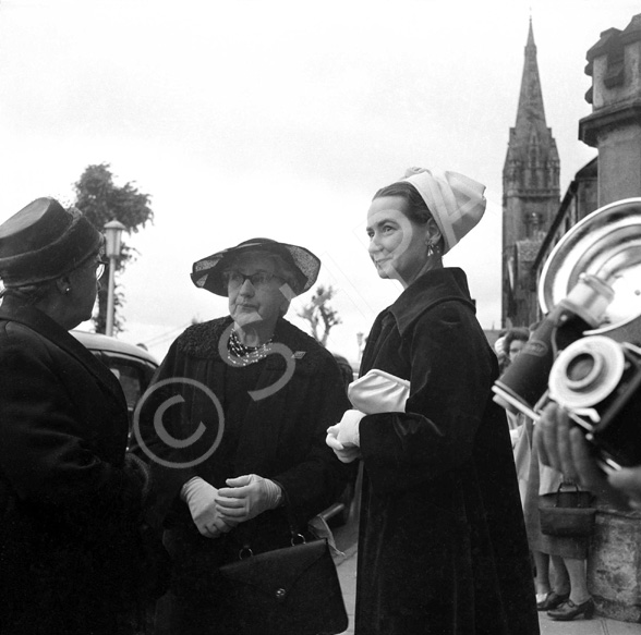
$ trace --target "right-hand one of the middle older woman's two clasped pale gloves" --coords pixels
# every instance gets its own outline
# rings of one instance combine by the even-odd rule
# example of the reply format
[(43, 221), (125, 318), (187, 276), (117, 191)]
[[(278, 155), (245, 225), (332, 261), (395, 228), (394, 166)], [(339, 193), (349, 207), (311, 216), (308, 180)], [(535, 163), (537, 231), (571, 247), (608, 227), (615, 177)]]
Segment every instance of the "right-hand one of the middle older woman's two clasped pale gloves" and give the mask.
[(255, 518), (282, 501), (282, 490), (273, 480), (256, 474), (228, 478), (229, 487), (221, 487), (216, 497), (216, 509), (227, 521), (242, 523)]

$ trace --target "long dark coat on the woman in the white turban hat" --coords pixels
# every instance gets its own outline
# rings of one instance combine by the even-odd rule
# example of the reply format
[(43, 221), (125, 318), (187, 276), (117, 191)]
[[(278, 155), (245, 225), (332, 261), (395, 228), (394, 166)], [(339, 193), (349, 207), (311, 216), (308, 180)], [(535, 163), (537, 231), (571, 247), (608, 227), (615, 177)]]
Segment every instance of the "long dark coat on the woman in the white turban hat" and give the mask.
[(361, 420), (361, 635), (539, 633), (496, 356), (460, 269), (419, 278), (374, 322), (361, 373), (411, 382)]

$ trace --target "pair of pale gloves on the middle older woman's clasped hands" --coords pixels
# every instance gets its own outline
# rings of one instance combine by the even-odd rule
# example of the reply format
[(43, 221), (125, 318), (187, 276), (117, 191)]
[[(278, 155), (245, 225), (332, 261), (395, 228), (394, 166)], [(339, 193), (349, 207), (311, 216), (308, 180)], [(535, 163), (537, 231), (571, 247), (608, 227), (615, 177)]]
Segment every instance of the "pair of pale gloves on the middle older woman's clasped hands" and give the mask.
[(256, 474), (228, 478), (226, 484), (228, 487), (217, 489), (194, 476), (180, 491), (194, 524), (206, 538), (218, 538), (282, 502), (280, 486)]

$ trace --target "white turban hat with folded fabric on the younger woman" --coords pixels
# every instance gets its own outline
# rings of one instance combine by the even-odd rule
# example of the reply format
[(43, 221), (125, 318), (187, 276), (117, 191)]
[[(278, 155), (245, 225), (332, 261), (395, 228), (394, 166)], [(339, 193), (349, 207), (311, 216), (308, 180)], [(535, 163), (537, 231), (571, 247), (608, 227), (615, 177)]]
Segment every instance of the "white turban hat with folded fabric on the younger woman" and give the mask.
[[(411, 176), (410, 176), (411, 174)], [(440, 172), (411, 168), (407, 181), (422, 196), (432, 212), (447, 254), (483, 217), (485, 211), (485, 185), (458, 172)]]

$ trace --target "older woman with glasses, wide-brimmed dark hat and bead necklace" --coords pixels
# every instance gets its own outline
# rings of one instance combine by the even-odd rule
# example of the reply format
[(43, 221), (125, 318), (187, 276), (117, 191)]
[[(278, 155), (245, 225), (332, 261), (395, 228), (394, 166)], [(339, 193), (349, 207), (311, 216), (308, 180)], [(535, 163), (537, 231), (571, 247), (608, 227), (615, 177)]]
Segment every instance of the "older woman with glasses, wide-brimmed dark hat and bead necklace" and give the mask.
[(268, 239), (194, 264), (194, 284), (228, 296), (230, 315), (178, 338), (140, 418), (141, 449), (165, 484), (157, 517), (174, 576), (158, 625), (172, 634), (245, 632), (255, 608), (227, 602), (218, 567), (243, 547), (289, 546), (346, 486), (325, 444), (349, 407), (340, 370), (283, 319), (319, 267), (307, 249)]

